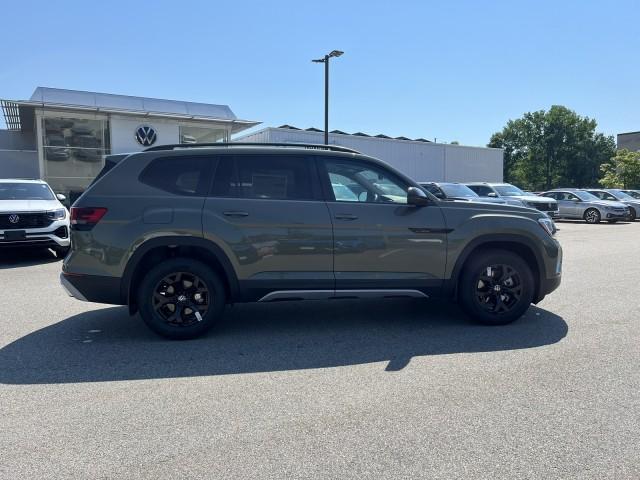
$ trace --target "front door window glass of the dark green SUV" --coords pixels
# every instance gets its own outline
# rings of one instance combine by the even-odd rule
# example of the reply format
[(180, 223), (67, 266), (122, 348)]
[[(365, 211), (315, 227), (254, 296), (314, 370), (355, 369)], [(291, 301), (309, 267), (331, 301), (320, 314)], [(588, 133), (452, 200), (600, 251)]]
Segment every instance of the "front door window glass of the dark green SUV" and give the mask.
[(326, 160), (325, 168), (336, 201), (355, 201), (352, 197), (344, 199), (342, 186), (347, 186), (358, 202), (407, 203), (409, 185), (377, 165)]

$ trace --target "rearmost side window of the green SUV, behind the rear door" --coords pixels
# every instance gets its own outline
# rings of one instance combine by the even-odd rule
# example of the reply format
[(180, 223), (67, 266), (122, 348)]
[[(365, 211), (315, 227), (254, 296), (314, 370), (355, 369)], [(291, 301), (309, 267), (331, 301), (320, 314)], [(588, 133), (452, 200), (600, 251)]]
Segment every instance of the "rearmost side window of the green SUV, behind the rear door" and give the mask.
[(156, 158), (142, 171), (140, 181), (174, 195), (205, 196), (213, 161), (211, 157)]

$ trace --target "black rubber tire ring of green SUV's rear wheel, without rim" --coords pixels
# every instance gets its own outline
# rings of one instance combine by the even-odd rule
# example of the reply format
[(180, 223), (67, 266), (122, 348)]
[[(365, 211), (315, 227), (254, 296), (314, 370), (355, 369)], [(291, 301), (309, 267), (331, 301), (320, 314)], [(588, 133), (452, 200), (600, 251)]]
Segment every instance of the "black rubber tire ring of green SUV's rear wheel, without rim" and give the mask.
[[(175, 272), (188, 272), (197, 275), (207, 285), (210, 305), (201, 322), (187, 327), (172, 326), (166, 323), (153, 309), (151, 299), (156, 286), (164, 277)], [(190, 258), (174, 258), (160, 263), (145, 275), (138, 289), (138, 308), (144, 322), (157, 334), (174, 340), (203, 335), (222, 316), (225, 303), (225, 290), (218, 274), (205, 264)]]

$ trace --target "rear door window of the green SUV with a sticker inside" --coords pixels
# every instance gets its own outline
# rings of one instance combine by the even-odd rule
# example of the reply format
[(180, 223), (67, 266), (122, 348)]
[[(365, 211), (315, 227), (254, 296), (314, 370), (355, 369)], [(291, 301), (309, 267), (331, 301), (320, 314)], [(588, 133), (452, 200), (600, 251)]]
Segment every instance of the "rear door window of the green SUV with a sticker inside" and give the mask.
[(313, 164), (294, 155), (237, 155), (217, 168), (213, 195), (263, 200), (314, 200)]

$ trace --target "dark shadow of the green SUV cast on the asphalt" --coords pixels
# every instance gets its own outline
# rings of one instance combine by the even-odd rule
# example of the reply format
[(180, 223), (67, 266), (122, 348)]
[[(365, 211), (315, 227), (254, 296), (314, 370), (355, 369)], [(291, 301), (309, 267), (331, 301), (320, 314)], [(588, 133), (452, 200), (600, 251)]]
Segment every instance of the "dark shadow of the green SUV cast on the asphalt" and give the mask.
[(456, 305), (387, 299), (247, 304), (189, 341), (157, 337), (126, 307), (92, 310), (0, 349), (0, 383), (176, 378), (340, 367), (412, 357), (534, 348), (567, 335), (565, 321), (532, 307), (517, 322), (469, 322)]

